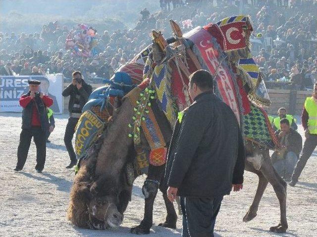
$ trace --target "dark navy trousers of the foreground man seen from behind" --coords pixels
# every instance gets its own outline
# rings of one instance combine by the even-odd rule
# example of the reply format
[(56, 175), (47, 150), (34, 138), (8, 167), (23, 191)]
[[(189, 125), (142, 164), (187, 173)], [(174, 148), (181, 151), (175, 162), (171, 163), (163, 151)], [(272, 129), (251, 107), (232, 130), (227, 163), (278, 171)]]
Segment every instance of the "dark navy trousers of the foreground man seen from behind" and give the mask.
[(214, 237), (213, 229), (223, 196), (180, 197), (183, 215), (182, 237)]

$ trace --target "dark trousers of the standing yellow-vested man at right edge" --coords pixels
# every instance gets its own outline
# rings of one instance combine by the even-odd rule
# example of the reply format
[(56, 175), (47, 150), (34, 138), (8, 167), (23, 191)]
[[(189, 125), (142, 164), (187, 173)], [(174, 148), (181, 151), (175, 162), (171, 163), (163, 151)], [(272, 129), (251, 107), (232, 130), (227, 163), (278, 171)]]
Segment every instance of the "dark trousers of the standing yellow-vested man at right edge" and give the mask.
[(294, 172), (292, 174), (292, 181), (295, 181), (295, 182), (298, 181), (298, 178), (301, 175), (307, 163), (307, 160), (312, 156), (312, 153), (314, 152), (316, 146), (317, 146), (317, 135), (310, 134), (309, 137), (305, 139), (302, 154), (300, 158), (298, 159)]

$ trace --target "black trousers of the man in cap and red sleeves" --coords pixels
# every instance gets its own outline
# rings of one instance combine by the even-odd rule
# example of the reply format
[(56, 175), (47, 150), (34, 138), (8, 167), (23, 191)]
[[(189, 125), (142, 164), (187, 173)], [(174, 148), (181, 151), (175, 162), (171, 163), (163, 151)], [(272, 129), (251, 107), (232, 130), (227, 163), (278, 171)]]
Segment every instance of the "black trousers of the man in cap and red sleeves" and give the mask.
[(32, 137), (34, 137), (34, 143), (36, 146), (35, 168), (42, 171), (44, 169), (46, 158), (46, 131), (43, 131), (40, 126), (33, 126), (31, 129), (22, 129), (18, 146), (18, 162), (16, 164), (16, 168), (23, 169), (28, 156)]

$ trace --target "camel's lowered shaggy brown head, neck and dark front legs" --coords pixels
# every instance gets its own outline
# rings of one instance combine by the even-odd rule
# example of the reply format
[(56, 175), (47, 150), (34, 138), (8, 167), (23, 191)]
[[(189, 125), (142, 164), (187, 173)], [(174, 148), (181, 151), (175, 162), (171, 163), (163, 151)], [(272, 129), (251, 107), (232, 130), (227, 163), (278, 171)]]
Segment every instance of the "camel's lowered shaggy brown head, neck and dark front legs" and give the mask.
[[(128, 137), (133, 107), (126, 99), (113, 114), (103, 136), (95, 144), (94, 153), (81, 161), (70, 193), (67, 218), (73, 224), (90, 229), (108, 229), (119, 226), (123, 213), (131, 200), (132, 185), (127, 185), (125, 171), (134, 162), (133, 140)], [(111, 138), (110, 138), (111, 137)], [(144, 146), (147, 146), (143, 138)], [(117, 144), (119, 146), (114, 146)], [(149, 148), (148, 148), (149, 149)], [(145, 195), (144, 219), (131, 233), (149, 234), (153, 225), (153, 204), (159, 183), (164, 176), (165, 165), (149, 166), (147, 180), (142, 188)], [(137, 176), (137, 175), (135, 175)], [(135, 178), (135, 177), (134, 177)], [(177, 214), (174, 205), (163, 193), (167, 216), (160, 226), (176, 228)]]

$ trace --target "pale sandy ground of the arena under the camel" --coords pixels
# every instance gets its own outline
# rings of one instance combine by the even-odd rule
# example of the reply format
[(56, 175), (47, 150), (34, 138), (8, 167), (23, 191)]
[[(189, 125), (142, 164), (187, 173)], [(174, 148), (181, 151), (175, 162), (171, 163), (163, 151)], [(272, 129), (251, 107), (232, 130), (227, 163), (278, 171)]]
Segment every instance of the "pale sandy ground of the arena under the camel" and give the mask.
[[(298, 119), (299, 121), (300, 119)], [(131, 237), (129, 228), (143, 218), (144, 197), (141, 187), (145, 177), (134, 184), (132, 201), (125, 212), (122, 227), (112, 231), (94, 231), (74, 227), (66, 220), (69, 191), (74, 178), (65, 169), (69, 162), (63, 144), (67, 116), (55, 115), (56, 128), (47, 146), (43, 174), (35, 172), (36, 149), (32, 142), (23, 171), (14, 172), (16, 151), (21, 131), (21, 114), (0, 114), (0, 236), (1, 237)], [(303, 134), (302, 126), (299, 131)], [(217, 237), (316, 237), (317, 236), (317, 151), (309, 159), (300, 182), (288, 186), (287, 218), (289, 229), (284, 235), (269, 233), (269, 227), (279, 222), (279, 204), (269, 185), (260, 203), (258, 216), (249, 223), (242, 222), (255, 195), (258, 178), (246, 172), (242, 192), (224, 197), (217, 218)], [(177, 230), (158, 227), (164, 221), (165, 207), (161, 194), (155, 202), (154, 226), (149, 236), (181, 236), (181, 217)]]

